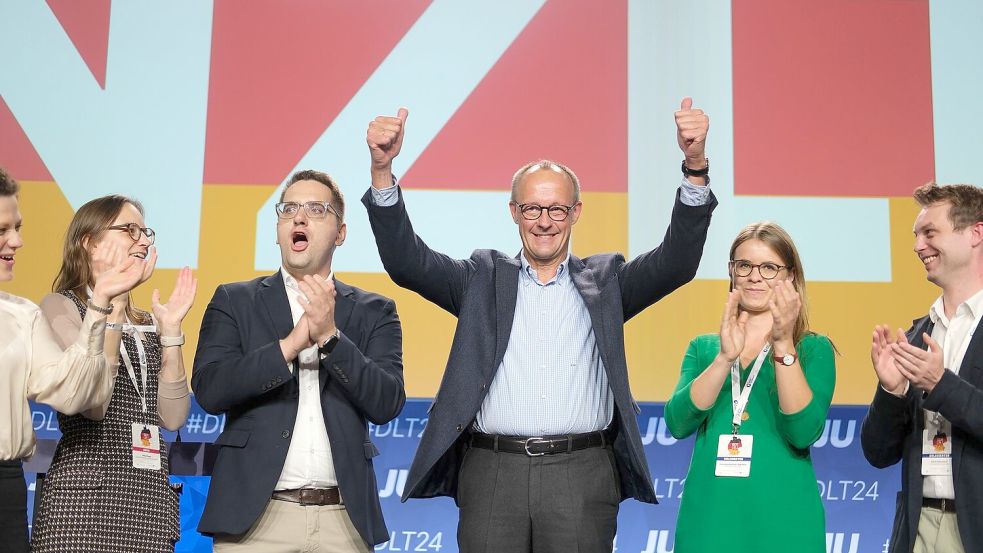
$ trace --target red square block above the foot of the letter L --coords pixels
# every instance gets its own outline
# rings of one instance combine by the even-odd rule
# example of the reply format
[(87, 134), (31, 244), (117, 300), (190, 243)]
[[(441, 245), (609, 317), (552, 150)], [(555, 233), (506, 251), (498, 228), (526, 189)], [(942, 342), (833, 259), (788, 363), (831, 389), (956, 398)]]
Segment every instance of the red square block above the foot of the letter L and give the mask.
[(738, 194), (908, 196), (933, 178), (928, 2), (732, 9)]

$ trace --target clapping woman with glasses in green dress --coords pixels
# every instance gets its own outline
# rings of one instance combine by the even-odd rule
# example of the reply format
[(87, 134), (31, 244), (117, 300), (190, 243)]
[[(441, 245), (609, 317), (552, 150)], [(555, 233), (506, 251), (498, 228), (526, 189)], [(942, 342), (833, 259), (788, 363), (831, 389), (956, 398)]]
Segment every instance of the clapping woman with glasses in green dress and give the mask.
[(674, 551), (823, 553), (809, 447), (833, 397), (833, 346), (809, 330), (802, 263), (784, 229), (744, 228), (729, 268), (720, 334), (690, 342), (666, 404), (673, 436), (696, 433)]

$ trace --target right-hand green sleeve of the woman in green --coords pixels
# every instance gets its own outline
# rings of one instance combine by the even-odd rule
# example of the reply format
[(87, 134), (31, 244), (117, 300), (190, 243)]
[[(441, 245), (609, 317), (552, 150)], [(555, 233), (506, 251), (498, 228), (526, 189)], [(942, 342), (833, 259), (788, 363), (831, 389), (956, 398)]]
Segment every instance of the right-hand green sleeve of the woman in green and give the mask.
[(799, 364), (812, 401), (796, 413), (778, 413), (778, 431), (792, 447), (807, 449), (823, 432), (836, 386), (836, 361), (829, 338), (812, 334), (799, 342)]

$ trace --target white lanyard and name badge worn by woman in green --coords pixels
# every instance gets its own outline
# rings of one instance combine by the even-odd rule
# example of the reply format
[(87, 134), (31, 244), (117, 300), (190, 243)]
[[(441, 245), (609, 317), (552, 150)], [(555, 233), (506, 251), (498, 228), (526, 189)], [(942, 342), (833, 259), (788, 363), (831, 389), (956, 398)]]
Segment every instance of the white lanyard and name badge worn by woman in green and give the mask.
[(751, 372), (748, 374), (744, 388), (741, 388), (741, 361), (735, 359), (730, 366), (730, 389), (733, 401), (731, 403), (734, 416), (731, 419), (732, 432), (721, 434), (717, 439), (717, 464), (714, 468), (714, 476), (726, 476), (735, 478), (747, 478), (751, 475), (751, 452), (754, 447), (754, 436), (750, 434), (738, 434), (741, 423), (744, 422), (744, 413), (747, 408), (748, 399), (751, 397), (751, 389), (754, 382), (761, 372), (761, 366), (765, 358), (771, 351), (771, 344), (765, 344), (761, 348), (761, 353), (754, 360)]

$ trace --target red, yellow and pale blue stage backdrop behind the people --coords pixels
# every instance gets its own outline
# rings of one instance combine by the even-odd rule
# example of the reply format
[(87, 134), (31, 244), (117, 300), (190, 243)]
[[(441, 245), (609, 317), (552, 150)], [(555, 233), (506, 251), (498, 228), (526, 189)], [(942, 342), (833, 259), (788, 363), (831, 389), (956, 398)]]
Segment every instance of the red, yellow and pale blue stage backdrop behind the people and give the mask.
[[(680, 179), (672, 112), (692, 96), (711, 116), (720, 206), (696, 280), (626, 327), (636, 398), (669, 396), (686, 343), (718, 325), (731, 239), (767, 218), (796, 239), (812, 325), (842, 353), (835, 417), (859, 420), (846, 405), (866, 404), (874, 388), (871, 328), (907, 328), (936, 295), (911, 251), (911, 190), (983, 182), (980, 21), (983, 4), (971, 0), (4, 0), (0, 165), (24, 185), (26, 246), (3, 289), (39, 300), (73, 210), (103, 194), (136, 197), (161, 256), (138, 303), (149, 306), (155, 287), (166, 294), (184, 265), (200, 281), (185, 324), (190, 367), (215, 286), (279, 265), (279, 185), (296, 169), (322, 169), (349, 204), (334, 268), (397, 301), (407, 394), (429, 398), (454, 320), (381, 270), (358, 204), (368, 121), (410, 109), (396, 170), (436, 249), (518, 252), (509, 179), (549, 157), (583, 183), (574, 253), (634, 255), (664, 232)], [(396, 443), (383, 449), (380, 485), (408, 466), (415, 442)], [(649, 452), (663, 487), (685, 471), (689, 446), (671, 447), (676, 464)], [(816, 451), (818, 470), (820, 452), (840, 450)], [(823, 470), (896, 480), (859, 458)], [(850, 550), (854, 532), (883, 533), (894, 498), (879, 492), (870, 526), (844, 518), (853, 526), (837, 529), (831, 512), (832, 551)], [(427, 509), (454, 516), (449, 502), (411, 505), (405, 520), (433, 520)], [(622, 548), (629, 530), (643, 536), (629, 550), (648, 531), (669, 532), (655, 536), (671, 544), (673, 519), (647, 518), (671, 505), (638, 509), (622, 523)], [(394, 516), (394, 530), (419, 530)], [(441, 531), (453, 551), (453, 532)]]

